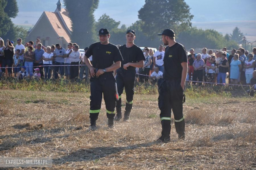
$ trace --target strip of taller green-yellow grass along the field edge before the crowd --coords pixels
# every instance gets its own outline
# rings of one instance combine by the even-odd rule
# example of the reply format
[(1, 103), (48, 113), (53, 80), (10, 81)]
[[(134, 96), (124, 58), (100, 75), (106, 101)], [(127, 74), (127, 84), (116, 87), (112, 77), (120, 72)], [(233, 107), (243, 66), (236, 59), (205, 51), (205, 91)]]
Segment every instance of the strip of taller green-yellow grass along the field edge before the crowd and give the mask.
[[(22, 80), (17, 81), (13, 78), (2, 79), (0, 89), (4, 90), (22, 90), (22, 91), (44, 91), (44, 92), (64, 92), (64, 93), (88, 93), (90, 92), (89, 82), (71, 82), (66, 79), (57, 79), (50, 81)], [(190, 86), (186, 88), (185, 94), (190, 98), (206, 97), (230, 97), (246, 96), (247, 89), (239, 87), (234, 89), (228, 86)], [(123, 92), (125, 94), (125, 91)], [(153, 84), (136, 83), (135, 94), (138, 95), (158, 95), (158, 86)], [(155, 100), (155, 99), (154, 99)]]

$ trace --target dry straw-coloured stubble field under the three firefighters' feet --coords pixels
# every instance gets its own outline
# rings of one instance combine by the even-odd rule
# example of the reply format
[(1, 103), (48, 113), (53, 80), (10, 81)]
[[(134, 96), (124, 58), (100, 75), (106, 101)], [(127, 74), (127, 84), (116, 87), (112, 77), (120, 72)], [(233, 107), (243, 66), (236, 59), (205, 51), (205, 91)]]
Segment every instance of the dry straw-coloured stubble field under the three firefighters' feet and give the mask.
[[(256, 168), (255, 98), (189, 98), (186, 139), (160, 135), (157, 95), (135, 95), (129, 122), (107, 128), (102, 103), (99, 129), (87, 132), (88, 93), (0, 90), (0, 155), (51, 157), (54, 169)], [(47, 168), (46, 168), (47, 169)]]

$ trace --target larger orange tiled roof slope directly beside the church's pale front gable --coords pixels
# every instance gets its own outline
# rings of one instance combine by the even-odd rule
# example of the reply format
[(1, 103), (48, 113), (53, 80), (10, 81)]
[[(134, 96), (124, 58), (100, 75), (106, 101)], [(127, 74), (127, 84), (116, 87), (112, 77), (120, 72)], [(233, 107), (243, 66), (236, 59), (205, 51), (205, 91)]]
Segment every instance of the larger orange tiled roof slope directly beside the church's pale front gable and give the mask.
[[(63, 10), (64, 11), (64, 10)], [(70, 33), (68, 32), (68, 30), (65, 28), (64, 24), (62, 23), (60, 17), (58, 16), (57, 13), (54, 12), (48, 12), (48, 11), (44, 11), (47, 18), (49, 19), (51, 25), (53, 26), (53, 29), (55, 30), (55, 32), (60, 36), (60, 37), (64, 37), (64, 39), (67, 42), (70, 42)], [(64, 18), (63, 18), (64, 19)], [(66, 20), (66, 19), (65, 19)]]

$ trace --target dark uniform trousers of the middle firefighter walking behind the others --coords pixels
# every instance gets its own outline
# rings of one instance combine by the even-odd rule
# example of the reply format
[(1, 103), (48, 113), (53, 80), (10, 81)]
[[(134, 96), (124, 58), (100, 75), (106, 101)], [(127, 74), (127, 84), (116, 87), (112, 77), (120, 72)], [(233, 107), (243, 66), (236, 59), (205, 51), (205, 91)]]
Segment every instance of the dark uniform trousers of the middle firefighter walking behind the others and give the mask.
[(134, 82), (135, 82), (136, 70), (128, 69), (124, 70), (122, 68), (117, 69), (117, 92), (119, 95), (119, 100), (117, 100), (117, 116), (121, 116), (121, 95), (123, 93), (123, 88), (125, 88), (126, 93), (126, 105), (125, 111), (131, 112), (133, 104), (133, 95), (134, 95)]

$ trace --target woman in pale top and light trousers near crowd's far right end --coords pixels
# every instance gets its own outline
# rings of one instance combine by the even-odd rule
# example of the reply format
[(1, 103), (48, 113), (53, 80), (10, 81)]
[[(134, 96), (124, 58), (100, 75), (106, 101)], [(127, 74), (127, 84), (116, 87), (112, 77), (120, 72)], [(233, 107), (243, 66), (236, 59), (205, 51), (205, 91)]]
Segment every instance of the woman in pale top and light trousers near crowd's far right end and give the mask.
[(249, 53), (247, 56), (249, 59), (245, 61), (244, 68), (245, 68), (246, 84), (249, 85), (250, 80), (252, 79), (255, 61), (253, 60), (253, 53)]

